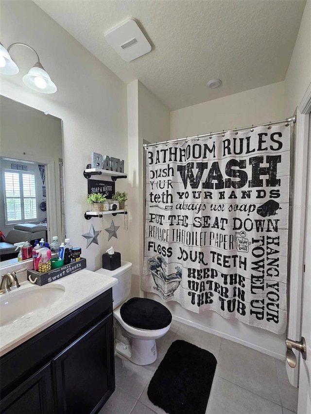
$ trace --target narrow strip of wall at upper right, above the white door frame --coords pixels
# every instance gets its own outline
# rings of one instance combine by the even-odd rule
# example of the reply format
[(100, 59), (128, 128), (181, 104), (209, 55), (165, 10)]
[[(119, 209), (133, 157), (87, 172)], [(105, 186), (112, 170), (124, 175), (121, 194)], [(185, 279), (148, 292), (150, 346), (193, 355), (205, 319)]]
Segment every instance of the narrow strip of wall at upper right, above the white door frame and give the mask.
[(285, 78), (285, 109), (293, 114), (311, 83), (311, 0), (306, 3)]

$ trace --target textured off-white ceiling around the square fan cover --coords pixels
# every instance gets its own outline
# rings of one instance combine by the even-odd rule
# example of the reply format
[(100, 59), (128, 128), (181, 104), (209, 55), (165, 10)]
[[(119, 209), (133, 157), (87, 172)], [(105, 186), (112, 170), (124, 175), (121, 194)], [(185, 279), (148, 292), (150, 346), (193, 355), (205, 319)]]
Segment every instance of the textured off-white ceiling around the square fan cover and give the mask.
[[(305, 1), (35, 0), (100, 61), (170, 110), (283, 81)], [(153, 50), (124, 62), (104, 33), (135, 17)], [(209, 89), (207, 81), (223, 84)]]

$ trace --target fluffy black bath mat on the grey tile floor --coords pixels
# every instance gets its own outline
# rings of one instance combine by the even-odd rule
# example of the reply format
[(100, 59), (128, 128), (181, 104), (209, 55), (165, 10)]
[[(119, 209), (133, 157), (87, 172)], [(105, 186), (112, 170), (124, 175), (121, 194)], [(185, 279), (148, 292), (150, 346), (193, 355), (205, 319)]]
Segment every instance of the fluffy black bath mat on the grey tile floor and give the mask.
[(150, 401), (169, 414), (205, 414), (216, 364), (205, 349), (173, 342), (150, 381)]

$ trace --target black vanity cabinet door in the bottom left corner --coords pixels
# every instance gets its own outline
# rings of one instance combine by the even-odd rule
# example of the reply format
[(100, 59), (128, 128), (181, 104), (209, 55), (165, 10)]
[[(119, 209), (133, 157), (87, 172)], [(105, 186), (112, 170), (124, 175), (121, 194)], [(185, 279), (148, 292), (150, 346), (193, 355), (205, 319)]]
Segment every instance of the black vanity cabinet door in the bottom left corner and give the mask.
[(1, 414), (53, 414), (51, 363), (1, 399)]

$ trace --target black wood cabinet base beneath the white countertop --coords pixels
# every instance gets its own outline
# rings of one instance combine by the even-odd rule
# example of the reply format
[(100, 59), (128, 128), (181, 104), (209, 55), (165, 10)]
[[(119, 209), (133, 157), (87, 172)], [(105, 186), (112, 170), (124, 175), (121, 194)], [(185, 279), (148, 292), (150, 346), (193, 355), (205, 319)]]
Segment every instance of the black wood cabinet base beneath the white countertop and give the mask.
[(0, 359), (1, 414), (95, 414), (115, 389), (112, 289)]

